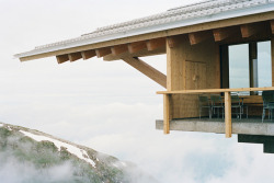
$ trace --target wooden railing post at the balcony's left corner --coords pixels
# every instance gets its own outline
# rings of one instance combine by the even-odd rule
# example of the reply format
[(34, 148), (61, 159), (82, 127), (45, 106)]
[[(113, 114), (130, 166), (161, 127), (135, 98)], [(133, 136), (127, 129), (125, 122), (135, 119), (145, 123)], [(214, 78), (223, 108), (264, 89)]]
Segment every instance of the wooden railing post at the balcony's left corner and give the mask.
[(170, 134), (170, 95), (163, 94), (163, 134)]

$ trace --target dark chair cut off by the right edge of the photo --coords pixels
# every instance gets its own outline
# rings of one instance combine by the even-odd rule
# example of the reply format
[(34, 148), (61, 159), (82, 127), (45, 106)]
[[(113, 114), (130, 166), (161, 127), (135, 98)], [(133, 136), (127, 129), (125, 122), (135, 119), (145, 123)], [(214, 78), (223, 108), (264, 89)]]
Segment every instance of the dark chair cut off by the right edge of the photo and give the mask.
[(269, 110), (269, 119), (272, 119), (272, 110), (274, 110), (274, 91), (263, 91), (263, 114), (262, 123), (265, 117), (265, 110)]

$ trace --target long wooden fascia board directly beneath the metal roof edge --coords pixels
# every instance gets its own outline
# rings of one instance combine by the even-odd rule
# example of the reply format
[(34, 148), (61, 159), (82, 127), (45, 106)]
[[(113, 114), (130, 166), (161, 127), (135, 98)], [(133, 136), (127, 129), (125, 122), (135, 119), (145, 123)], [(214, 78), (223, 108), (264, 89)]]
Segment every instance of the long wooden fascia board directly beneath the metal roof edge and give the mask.
[(221, 21), (206, 22), (202, 24), (183, 26), (183, 27), (161, 31), (157, 33), (136, 35), (136, 36), (107, 41), (107, 42), (100, 42), (100, 43), (79, 46), (79, 47), (72, 47), (72, 48), (30, 55), (26, 57), (21, 57), (20, 60), (27, 61), (27, 60), (45, 58), (45, 57), (50, 57), (50, 56), (58, 56), (58, 55), (66, 55), (69, 53), (83, 52), (88, 49), (96, 49), (100, 47), (110, 47), (114, 45), (128, 44), (133, 42), (142, 42), (142, 41), (151, 39), (151, 38), (167, 37), (167, 36), (180, 35), (180, 34), (187, 34), (191, 32), (199, 32), (199, 31), (214, 30), (214, 28), (220, 28), (220, 27), (226, 27), (226, 26), (241, 25), (243, 23), (269, 21), (269, 20), (273, 20), (273, 16), (274, 16), (274, 11), (264, 12), (260, 14), (252, 14), (252, 15), (247, 15), (247, 16), (241, 16), (241, 18), (227, 19), (227, 20), (221, 20)]

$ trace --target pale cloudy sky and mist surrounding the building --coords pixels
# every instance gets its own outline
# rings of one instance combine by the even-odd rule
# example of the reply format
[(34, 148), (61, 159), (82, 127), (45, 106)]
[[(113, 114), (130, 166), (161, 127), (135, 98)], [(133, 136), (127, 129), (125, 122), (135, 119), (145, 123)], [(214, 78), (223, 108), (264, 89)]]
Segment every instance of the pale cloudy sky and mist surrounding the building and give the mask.
[[(273, 155), (237, 136), (156, 130), (164, 90), (122, 60), (20, 62), (14, 54), (192, 1), (0, 0), (0, 122), (137, 164), (159, 182), (273, 182)], [(144, 58), (165, 73), (165, 56)]]

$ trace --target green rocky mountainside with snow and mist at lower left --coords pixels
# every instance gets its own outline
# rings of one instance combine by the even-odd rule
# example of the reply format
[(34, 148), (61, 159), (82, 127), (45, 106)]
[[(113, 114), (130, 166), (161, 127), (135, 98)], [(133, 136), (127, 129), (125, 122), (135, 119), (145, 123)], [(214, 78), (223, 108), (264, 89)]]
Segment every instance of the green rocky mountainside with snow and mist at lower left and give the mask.
[(155, 183), (136, 165), (50, 135), (0, 123), (1, 183)]

